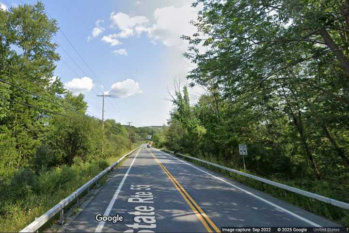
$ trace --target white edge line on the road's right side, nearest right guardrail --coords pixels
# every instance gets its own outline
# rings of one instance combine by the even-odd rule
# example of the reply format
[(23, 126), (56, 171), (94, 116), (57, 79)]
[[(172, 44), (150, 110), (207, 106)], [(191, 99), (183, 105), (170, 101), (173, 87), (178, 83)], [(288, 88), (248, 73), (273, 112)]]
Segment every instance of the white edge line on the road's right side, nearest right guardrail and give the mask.
[[(158, 149), (155, 149), (155, 148), (153, 148), (153, 149), (154, 149), (154, 150), (158, 150)], [(224, 182), (224, 183), (227, 183), (227, 184), (229, 184), (229, 185), (231, 185), (231, 186), (233, 186), (233, 187), (235, 187), (235, 188), (241, 190), (242, 192), (245, 192), (245, 193), (247, 193), (247, 194), (253, 196), (253, 197), (256, 198), (256, 199), (259, 199), (259, 200), (261, 200), (261, 201), (264, 201), (264, 202), (266, 202), (266, 203), (268, 203), (268, 204), (270, 204), (270, 205), (272, 205), (272, 206), (274, 206), (274, 207), (276, 207), (276, 208), (278, 208), (278, 209), (280, 209), (280, 210), (282, 210), (282, 211), (285, 211), (287, 214), (292, 215), (292, 216), (294, 216), (294, 217), (297, 217), (297, 218), (301, 219), (302, 221), (307, 222), (307, 223), (313, 225), (314, 227), (321, 227), (320, 225), (318, 225), (318, 224), (315, 223), (315, 222), (310, 221), (309, 219), (306, 219), (306, 218), (304, 218), (304, 217), (302, 217), (302, 216), (299, 216), (299, 215), (297, 215), (297, 214), (295, 214), (295, 213), (293, 213), (293, 212), (291, 212), (291, 211), (289, 211), (289, 210), (286, 210), (285, 208), (283, 208), (283, 207), (281, 207), (281, 206), (279, 206), (279, 205), (277, 205), (277, 204), (274, 204), (274, 203), (270, 202), (269, 200), (265, 200), (265, 199), (263, 199), (263, 198), (261, 198), (261, 197), (258, 197), (257, 195), (254, 195), (253, 193), (251, 193), (251, 192), (249, 192), (249, 191), (247, 191), (247, 190), (245, 190), (245, 189), (243, 189), (243, 188), (240, 188), (240, 187), (238, 187), (238, 186), (236, 186), (236, 185), (234, 185), (234, 184), (232, 184), (232, 183), (229, 183), (229, 182), (223, 180), (222, 178), (219, 178), (219, 177), (217, 177), (217, 176), (214, 176), (214, 175), (212, 175), (212, 174), (210, 174), (210, 173), (208, 173), (208, 172), (206, 172), (206, 171), (204, 171), (204, 170), (202, 170), (202, 169), (200, 169), (200, 168), (198, 168), (198, 167), (196, 167), (196, 166), (193, 166), (193, 165), (191, 165), (191, 164), (188, 164), (188, 163), (184, 162), (183, 160), (178, 159), (178, 158), (172, 156), (171, 154), (162, 152), (161, 150), (158, 150), (158, 151), (161, 152), (161, 153), (163, 153), (163, 154), (169, 155), (169, 156), (171, 156), (172, 158), (174, 158), (174, 159), (176, 159), (176, 160), (178, 160), (178, 161), (180, 161), (180, 162), (182, 162), (182, 163), (184, 163), (184, 164), (186, 164), (186, 165), (192, 166), (192, 167), (194, 167), (195, 169), (198, 169), (199, 171), (202, 171), (202, 172), (206, 173), (207, 175), (213, 176), (214, 178), (216, 178), (216, 179), (218, 179), (218, 180), (220, 180), (220, 181), (222, 181), (222, 182)]]

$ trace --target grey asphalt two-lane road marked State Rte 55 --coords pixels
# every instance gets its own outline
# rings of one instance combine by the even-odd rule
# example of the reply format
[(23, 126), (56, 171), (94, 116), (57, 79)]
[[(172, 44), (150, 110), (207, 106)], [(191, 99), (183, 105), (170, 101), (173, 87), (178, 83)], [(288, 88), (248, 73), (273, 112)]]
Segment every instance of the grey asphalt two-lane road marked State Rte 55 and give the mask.
[[(114, 219), (96, 220), (102, 216)], [(142, 146), (63, 232), (218, 232), (222, 226), (338, 225)]]

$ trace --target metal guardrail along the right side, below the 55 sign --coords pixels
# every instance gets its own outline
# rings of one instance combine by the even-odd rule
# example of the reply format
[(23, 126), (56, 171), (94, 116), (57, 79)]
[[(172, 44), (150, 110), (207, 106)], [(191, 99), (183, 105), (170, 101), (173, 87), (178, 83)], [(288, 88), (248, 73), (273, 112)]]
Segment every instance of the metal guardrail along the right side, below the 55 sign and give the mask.
[(276, 187), (288, 190), (290, 192), (300, 194), (302, 196), (306, 196), (306, 197), (309, 197), (309, 198), (320, 200), (320, 201), (323, 201), (325, 203), (329, 203), (329, 204), (332, 204), (332, 205), (335, 205), (335, 206), (338, 206), (338, 207), (341, 207), (341, 208), (349, 210), (349, 203), (346, 203), (346, 202), (342, 202), (342, 201), (339, 201), (339, 200), (334, 200), (332, 198), (327, 198), (327, 197), (324, 197), (324, 196), (321, 196), (321, 195), (318, 195), (318, 194), (315, 194), (315, 193), (311, 193), (311, 192), (308, 192), (308, 191), (301, 190), (299, 188), (294, 188), (294, 187), (288, 186), (286, 184), (270, 181), (270, 180), (267, 180), (267, 179), (264, 179), (264, 178), (260, 178), (258, 176), (254, 176), (254, 175), (251, 175), (251, 174), (248, 174), (248, 173), (245, 173), (245, 172), (242, 172), (242, 171), (238, 171), (238, 170), (235, 170), (235, 169), (232, 169), (232, 168), (229, 168), (229, 167), (225, 167), (225, 166), (221, 166), (221, 165), (214, 164), (214, 163), (211, 163), (211, 162), (207, 162), (205, 160), (194, 158), (194, 157), (191, 157), (191, 156), (188, 156), (188, 155), (185, 155), (185, 154), (174, 153), (174, 151), (170, 151), (170, 150), (162, 150), (162, 151), (165, 151), (165, 152), (168, 152), (168, 153), (171, 153), (171, 154), (175, 154), (175, 155), (180, 155), (180, 156), (183, 156), (183, 157), (187, 157), (187, 158), (190, 158), (190, 159), (202, 162), (204, 164), (209, 164), (211, 166), (219, 167), (219, 168), (221, 168), (223, 170), (234, 172), (234, 173), (237, 173), (237, 174), (239, 174), (241, 176), (245, 176), (245, 177), (249, 177), (251, 179), (254, 179), (256, 181), (267, 183), (267, 184), (270, 184), (270, 185), (273, 185), (273, 186), (276, 186)]

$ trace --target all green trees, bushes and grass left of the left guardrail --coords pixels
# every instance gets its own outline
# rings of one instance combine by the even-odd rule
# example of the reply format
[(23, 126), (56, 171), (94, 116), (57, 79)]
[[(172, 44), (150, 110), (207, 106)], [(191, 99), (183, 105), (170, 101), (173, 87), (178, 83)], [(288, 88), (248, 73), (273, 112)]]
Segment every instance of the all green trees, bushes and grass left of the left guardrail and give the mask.
[(106, 120), (102, 136), (84, 95), (52, 77), (57, 30), (42, 2), (0, 10), (0, 79), (58, 103), (0, 82), (0, 232), (21, 230), (128, 147), (127, 128)]

